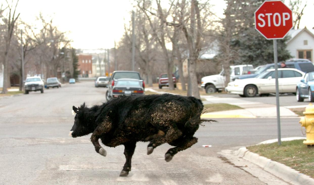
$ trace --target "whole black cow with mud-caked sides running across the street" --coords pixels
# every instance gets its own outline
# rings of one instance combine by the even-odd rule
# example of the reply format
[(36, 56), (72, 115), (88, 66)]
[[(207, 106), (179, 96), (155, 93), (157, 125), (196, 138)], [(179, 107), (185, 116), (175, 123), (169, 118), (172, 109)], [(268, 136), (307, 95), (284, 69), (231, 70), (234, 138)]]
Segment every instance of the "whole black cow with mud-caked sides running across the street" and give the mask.
[(98, 139), (109, 147), (123, 144), (126, 162), (120, 176), (127, 176), (131, 171), (131, 158), (136, 142), (149, 141), (147, 154), (157, 146), (168, 143), (174, 148), (165, 154), (165, 160), (197, 142), (193, 137), (204, 121), (203, 103), (194, 97), (179, 95), (120, 96), (100, 106), (87, 108), (85, 103), (73, 111), (76, 113), (74, 125), (70, 131), (73, 138), (89, 133), (95, 150), (106, 156)]

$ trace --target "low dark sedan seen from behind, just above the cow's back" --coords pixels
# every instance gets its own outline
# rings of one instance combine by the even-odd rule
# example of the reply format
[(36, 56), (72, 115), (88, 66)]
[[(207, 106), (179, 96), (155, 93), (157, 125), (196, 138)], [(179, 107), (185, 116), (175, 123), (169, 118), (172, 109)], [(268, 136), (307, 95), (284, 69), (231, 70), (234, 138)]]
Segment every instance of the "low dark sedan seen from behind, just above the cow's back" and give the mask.
[(144, 88), (141, 80), (137, 79), (118, 79), (112, 88), (111, 96), (113, 98), (119, 95), (144, 95)]

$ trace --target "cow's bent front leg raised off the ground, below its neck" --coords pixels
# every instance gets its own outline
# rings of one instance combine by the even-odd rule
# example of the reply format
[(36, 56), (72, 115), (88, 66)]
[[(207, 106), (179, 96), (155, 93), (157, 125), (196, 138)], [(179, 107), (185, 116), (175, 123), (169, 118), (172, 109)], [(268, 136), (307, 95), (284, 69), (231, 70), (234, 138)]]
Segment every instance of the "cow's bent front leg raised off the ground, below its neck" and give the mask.
[(100, 155), (106, 156), (107, 152), (105, 149), (103, 149), (100, 144), (98, 139), (101, 137), (102, 134), (105, 134), (109, 132), (111, 129), (111, 123), (107, 122), (102, 122), (92, 133), (92, 136), (90, 137), (91, 142), (93, 143), (95, 150), (97, 153)]

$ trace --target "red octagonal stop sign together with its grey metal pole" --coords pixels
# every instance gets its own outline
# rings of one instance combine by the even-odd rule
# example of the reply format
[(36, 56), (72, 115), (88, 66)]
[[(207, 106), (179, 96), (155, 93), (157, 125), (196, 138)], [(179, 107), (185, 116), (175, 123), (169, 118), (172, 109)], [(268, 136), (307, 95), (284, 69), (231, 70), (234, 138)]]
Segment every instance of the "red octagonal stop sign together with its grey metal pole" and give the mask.
[(264, 1), (254, 13), (255, 29), (266, 39), (273, 40), (275, 78), (276, 78), (276, 105), (278, 144), (281, 145), (279, 85), (278, 85), (278, 53), (277, 39), (283, 39), (292, 28), (292, 11), (281, 1)]

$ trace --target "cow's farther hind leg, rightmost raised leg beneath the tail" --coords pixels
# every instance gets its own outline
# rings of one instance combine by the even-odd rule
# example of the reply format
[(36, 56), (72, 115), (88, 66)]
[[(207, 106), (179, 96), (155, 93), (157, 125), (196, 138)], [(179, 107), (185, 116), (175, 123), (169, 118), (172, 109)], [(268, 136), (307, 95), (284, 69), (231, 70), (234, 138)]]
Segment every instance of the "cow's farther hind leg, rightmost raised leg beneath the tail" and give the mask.
[(165, 154), (165, 161), (169, 162), (171, 161), (172, 157), (176, 155), (179, 151), (185, 150), (187, 148), (190, 148), (193, 144), (197, 143), (197, 138), (193, 136), (185, 136), (180, 137), (179, 139), (176, 139), (173, 142), (170, 142), (169, 144), (172, 146), (176, 146), (174, 148), (169, 149)]

